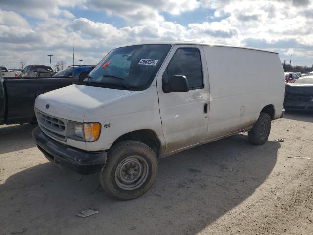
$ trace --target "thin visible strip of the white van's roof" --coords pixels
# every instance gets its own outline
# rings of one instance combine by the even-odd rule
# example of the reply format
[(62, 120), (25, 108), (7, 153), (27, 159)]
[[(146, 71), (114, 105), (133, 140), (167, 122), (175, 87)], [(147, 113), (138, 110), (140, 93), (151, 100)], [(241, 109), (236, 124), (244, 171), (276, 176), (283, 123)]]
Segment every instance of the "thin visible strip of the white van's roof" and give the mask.
[[(171, 44), (171, 45), (190, 44), (190, 45), (205, 45), (205, 46), (211, 46), (211, 47), (233, 47), (233, 48), (241, 48), (241, 49), (247, 49), (247, 50), (258, 50), (258, 51), (263, 51), (263, 52), (278, 54), (278, 52), (273, 52), (273, 51), (263, 50), (263, 49), (258, 49), (258, 48), (252, 48), (252, 47), (237, 47), (237, 46), (224, 45), (224, 44), (200, 43), (200, 42), (184, 42), (184, 41), (143, 42), (143, 43), (136, 43), (136, 44), (126, 45), (126, 46), (145, 45), (145, 44)], [(126, 46), (125, 46), (125, 47), (126, 47)]]

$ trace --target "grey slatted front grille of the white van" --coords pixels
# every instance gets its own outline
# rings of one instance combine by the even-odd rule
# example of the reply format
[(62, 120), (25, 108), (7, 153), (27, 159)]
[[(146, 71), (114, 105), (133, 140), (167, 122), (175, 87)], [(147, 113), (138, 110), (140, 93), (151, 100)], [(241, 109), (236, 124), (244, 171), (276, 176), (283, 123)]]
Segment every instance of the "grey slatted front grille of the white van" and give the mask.
[(39, 110), (36, 112), (39, 127), (45, 134), (57, 138), (61, 141), (67, 141), (67, 120), (45, 114)]

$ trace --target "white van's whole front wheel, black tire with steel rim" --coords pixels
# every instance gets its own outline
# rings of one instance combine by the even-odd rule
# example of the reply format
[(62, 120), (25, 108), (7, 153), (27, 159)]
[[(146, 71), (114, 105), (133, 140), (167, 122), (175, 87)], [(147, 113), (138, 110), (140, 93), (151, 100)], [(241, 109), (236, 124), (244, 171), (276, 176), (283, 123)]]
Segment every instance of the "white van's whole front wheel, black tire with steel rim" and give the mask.
[(130, 200), (149, 190), (157, 169), (156, 154), (148, 145), (121, 141), (110, 149), (100, 182), (111, 197)]

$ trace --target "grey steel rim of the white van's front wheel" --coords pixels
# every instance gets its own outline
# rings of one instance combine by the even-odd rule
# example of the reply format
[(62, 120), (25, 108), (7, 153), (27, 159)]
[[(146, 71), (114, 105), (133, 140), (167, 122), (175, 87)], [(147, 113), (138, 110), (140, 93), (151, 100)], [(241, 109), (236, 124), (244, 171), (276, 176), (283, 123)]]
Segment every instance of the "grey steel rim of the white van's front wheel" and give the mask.
[(120, 162), (115, 170), (115, 181), (119, 188), (134, 190), (141, 187), (148, 178), (147, 161), (138, 155), (129, 156)]

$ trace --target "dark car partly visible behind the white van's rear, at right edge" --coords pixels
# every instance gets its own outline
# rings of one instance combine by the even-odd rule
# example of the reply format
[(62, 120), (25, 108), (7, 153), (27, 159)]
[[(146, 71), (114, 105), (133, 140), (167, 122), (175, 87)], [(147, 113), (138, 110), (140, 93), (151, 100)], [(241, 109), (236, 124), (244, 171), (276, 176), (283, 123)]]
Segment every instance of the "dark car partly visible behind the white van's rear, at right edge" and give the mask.
[(300, 77), (294, 83), (286, 83), (284, 108), (313, 110), (313, 76)]

